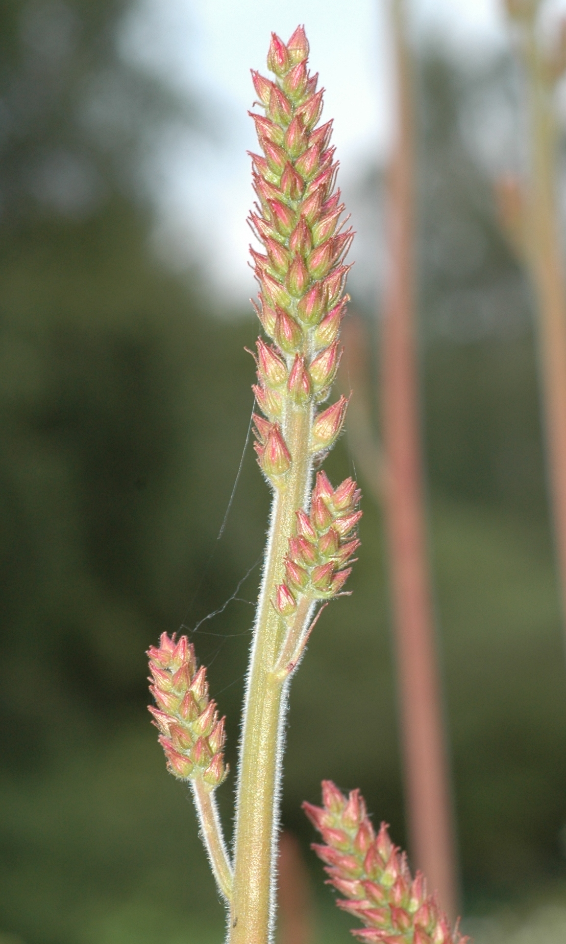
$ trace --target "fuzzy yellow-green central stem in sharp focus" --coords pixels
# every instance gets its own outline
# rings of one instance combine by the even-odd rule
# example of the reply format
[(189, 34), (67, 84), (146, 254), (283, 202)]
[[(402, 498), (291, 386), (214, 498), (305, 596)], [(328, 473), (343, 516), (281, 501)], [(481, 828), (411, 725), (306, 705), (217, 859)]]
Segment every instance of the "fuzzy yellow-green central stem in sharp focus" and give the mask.
[(285, 488), (275, 492), (244, 703), (229, 944), (267, 944), (273, 939), (287, 683), (274, 671), (284, 630), (272, 600), (275, 587), (285, 580), (284, 559), (295, 512), (308, 501), (311, 426), (310, 404), (289, 406), (283, 431), (291, 470)]

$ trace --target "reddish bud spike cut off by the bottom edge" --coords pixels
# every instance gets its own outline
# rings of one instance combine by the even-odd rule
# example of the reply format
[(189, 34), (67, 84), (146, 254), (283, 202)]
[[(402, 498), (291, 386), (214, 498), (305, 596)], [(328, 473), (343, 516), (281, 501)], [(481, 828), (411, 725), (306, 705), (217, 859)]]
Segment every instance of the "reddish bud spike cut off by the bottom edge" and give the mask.
[(329, 885), (344, 896), (336, 903), (363, 924), (354, 931), (360, 941), (374, 944), (465, 944), (451, 929), (434, 895), (426, 894), (425, 878), (413, 879), (405, 854), (393, 846), (385, 823), (375, 835), (358, 790), (344, 797), (331, 781), (323, 781), (323, 806), (303, 809), (325, 845), (312, 849), (325, 862)]

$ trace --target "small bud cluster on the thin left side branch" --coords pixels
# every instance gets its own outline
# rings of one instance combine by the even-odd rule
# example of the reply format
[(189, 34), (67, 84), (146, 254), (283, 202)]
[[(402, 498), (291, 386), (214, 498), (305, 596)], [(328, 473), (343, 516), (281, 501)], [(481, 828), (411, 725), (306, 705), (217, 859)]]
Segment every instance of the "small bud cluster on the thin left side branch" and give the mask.
[(196, 667), (194, 647), (187, 636), (175, 642), (163, 632), (158, 648), (148, 652), (149, 690), (158, 707), (149, 711), (159, 730), (167, 767), (179, 780), (202, 778), (213, 789), (226, 775), (223, 748), (225, 719), (208, 699), (207, 670)]

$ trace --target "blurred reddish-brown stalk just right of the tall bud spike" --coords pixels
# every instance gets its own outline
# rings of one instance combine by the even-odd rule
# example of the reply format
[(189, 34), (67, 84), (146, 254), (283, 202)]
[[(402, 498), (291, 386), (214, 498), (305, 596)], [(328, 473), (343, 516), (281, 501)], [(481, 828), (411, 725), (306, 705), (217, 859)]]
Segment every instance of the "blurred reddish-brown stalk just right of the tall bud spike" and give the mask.
[(427, 566), (414, 304), (414, 118), (403, 0), (392, 0), (397, 138), (391, 160), (389, 272), (381, 329), (383, 503), (401, 703), (409, 842), (415, 864), (457, 911), (452, 800)]

